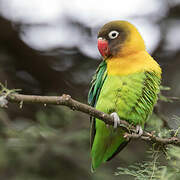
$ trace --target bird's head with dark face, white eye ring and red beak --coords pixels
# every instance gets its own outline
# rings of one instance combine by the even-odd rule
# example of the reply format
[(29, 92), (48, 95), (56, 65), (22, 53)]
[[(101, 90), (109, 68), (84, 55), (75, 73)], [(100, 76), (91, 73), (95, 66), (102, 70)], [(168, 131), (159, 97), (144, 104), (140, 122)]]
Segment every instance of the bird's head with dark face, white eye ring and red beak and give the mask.
[(98, 49), (104, 58), (113, 57), (120, 54), (124, 47), (129, 46), (127, 48), (131, 49), (132, 45), (133, 47), (136, 46), (136, 40), (141, 41), (140, 43), (144, 47), (143, 39), (132, 24), (127, 21), (112, 21), (100, 29), (98, 33)]

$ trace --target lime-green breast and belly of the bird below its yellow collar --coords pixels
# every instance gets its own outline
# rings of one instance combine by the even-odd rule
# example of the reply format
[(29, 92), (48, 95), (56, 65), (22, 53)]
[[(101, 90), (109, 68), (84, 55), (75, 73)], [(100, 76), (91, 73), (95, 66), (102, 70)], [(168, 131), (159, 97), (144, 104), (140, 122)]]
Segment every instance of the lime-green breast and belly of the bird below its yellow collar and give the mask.
[(120, 118), (135, 124), (143, 123), (157, 100), (159, 80), (151, 82), (153, 78), (148, 72), (108, 75), (96, 108), (109, 114), (117, 112)]

